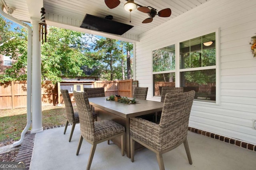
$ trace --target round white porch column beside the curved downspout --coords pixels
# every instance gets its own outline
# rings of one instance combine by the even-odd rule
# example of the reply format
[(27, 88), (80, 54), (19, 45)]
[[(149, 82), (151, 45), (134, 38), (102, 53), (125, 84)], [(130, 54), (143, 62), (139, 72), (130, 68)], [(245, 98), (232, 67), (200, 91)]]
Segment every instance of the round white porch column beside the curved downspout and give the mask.
[(31, 18), (32, 36), (32, 129), (31, 133), (43, 131), (41, 97), (41, 43), (39, 41), (40, 18)]

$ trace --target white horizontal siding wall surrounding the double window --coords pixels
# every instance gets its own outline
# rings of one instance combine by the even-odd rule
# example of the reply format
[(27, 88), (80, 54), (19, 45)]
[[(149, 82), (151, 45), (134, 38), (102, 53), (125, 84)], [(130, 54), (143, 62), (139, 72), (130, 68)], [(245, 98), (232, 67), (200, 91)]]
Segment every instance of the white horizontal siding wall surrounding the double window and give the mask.
[(256, 58), (249, 45), (256, 33), (255, 8), (252, 0), (210, 0), (140, 35), (135, 80), (148, 87), (147, 100), (160, 101), (152, 94), (152, 50), (176, 44), (178, 52), (179, 42), (220, 29), (219, 102), (194, 101), (189, 126), (256, 145)]

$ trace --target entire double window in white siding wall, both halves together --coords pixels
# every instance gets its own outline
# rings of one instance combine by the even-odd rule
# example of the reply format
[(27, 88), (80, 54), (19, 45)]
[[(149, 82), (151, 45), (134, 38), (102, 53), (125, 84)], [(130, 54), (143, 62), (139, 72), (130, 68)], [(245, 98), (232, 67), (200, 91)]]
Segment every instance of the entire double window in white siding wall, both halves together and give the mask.
[[(176, 45), (176, 58), (175, 45), (152, 51), (153, 96), (160, 96), (163, 86), (180, 86), (184, 92), (195, 90), (195, 100), (216, 102), (216, 32)], [(179, 66), (175, 66), (175, 59)]]

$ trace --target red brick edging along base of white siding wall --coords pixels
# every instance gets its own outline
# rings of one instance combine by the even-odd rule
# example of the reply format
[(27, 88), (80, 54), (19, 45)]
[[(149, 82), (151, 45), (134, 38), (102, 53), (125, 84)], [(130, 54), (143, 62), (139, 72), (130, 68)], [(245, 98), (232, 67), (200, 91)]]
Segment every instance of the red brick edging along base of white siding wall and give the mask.
[(229, 137), (224, 137), (224, 136), (221, 136), (221, 135), (217, 135), (215, 133), (210, 133), (210, 132), (207, 132), (207, 131), (196, 129), (194, 127), (188, 127), (188, 130), (191, 131), (191, 132), (194, 132), (194, 133), (198, 133), (200, 135), (204, 135), (204, 136), (207, 136), (207, 137), (211, 137), (213, 139), (217, 139), (219, 141), (223, 141), (223, 142), (235, 145), (237, 147), (242, 147), (244, 149), (248, 149), (248, 150), (256, 152), (256, 145), (252, 145), (250, 143), (242, 142), (242, 141), (232, 139), (232, 138), (229, 138)]

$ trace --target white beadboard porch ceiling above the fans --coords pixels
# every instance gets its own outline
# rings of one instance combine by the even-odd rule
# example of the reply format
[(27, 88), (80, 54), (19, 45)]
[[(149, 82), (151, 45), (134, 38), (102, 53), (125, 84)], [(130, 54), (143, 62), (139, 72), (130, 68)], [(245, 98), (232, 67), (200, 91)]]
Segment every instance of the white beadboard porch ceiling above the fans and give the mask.
[[(163, 18), (155, 16), (151, 23), (142, 23), (144, 19), (148, 18), (148, 15), (138, 10), (132, 11), (131, 22), (129, 22), (129, 12), (124, 10), (126, 0), (120, 0), (121, 3), (114, 9), (109, 9), (104, 0), (34, 0), (34, 2), (33, 0), (0, 0), (0, 3), (5, 3), (8, 8), (14, 9), (14, 12), (11, 14), (13, 17), (26, 22), (30, 22), (30, 18), (33, 17), (31, 16), (33, 13), (31, 10), (33, 10), (33, 8), (30, 6), (31, 3), (35, 2), (43, 3), (46, 11), (46, 22), (48, 19), (47, 15), (50, 14), (52, 16), (68, 17), (72, 20), (78, 20), (79, 22), (84, 19), (86, 14), (102, 18), (105, 18), (107, 15), (112, 15), (114, 21), (133, 25), (134, 27), (126, 33), (138, 37), (140, 34), (166, 21), (172, 20), (207, 1), (209, 0), (134, 0), (137, 4), (151, 6), (158, 11), (164, 8), (170, 8), (172, 10), (170, 17)], [(40, 11), (38, 11), (38, 13), (40, 14)], [(76, 27), (79, 26), (76, 25)]]

